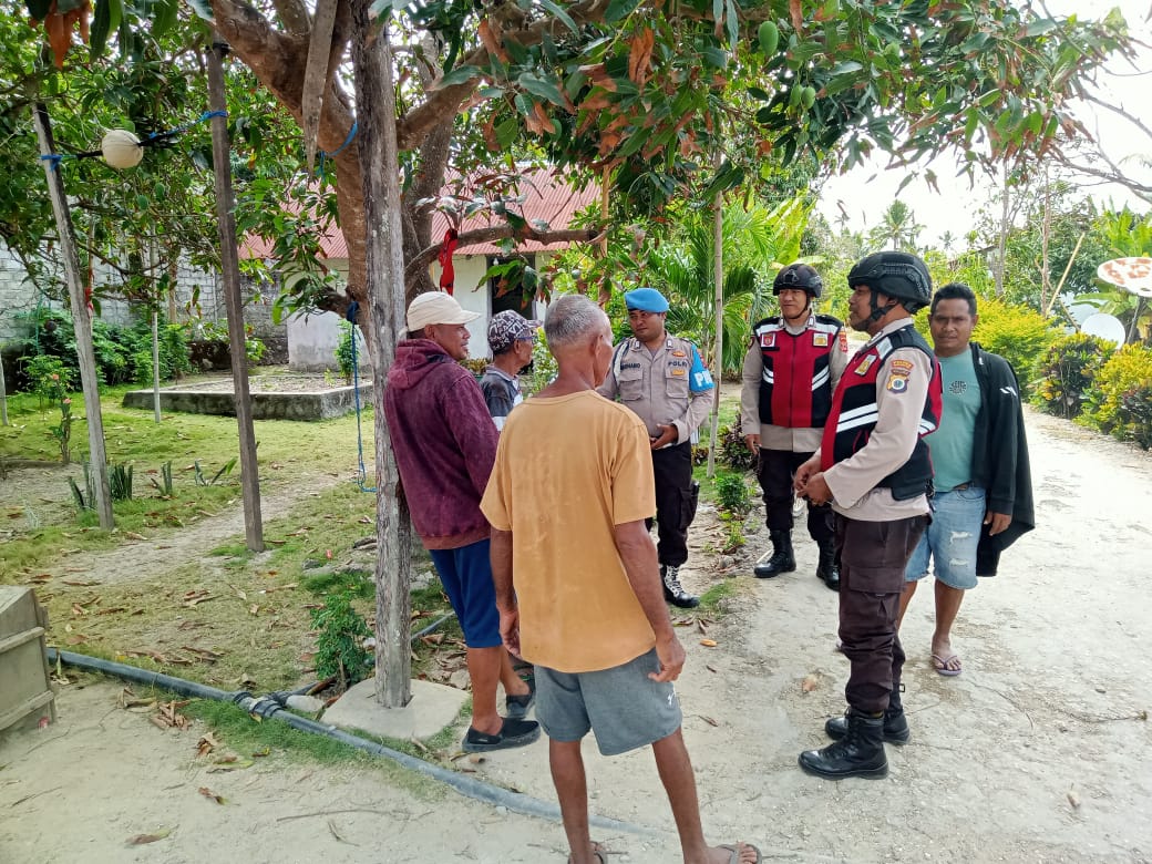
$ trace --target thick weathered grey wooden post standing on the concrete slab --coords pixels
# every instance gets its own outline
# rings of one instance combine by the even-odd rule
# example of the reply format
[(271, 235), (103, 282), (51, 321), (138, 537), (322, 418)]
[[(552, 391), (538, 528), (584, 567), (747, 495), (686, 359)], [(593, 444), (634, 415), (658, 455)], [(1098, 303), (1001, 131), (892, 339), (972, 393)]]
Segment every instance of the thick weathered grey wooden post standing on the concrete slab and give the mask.
[[(365, 327), (372, 357), (376, 432), (376, 698), (386, 708), (412, 697), (410, 612), (411, 523), (399, 499), (400, 473), (384, 417), (384, 379), (406, 329), (404, 252), (400, 225), (400, 159), (396, 143), (395, 83), (387, 23), (377, 32), (371, 0), (353, 0), (351, 58), (356, 120), (367, 222), (369, 309)], [(363, 316), (363, 312), (362, 312)]]

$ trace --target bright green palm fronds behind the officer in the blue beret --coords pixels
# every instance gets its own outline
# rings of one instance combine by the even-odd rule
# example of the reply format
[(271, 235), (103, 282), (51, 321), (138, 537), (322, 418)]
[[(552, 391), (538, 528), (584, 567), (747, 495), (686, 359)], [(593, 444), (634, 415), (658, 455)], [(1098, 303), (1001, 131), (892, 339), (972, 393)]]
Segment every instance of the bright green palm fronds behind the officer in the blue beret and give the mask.
[[(725, 209), (721, 229), (723, 264), (725, 372), (738, 371), (755, 321), (768, 314), (772, 279), (799, 253), (810, 205), (801, 198), (773, 210), (740, 204)], [(713, 223), (707, 211), (695, 213), (669, 242), (647, 260), (649, 280), (668, 297), (669, 333), (696, 341), (713, 353), (715, 286)]]

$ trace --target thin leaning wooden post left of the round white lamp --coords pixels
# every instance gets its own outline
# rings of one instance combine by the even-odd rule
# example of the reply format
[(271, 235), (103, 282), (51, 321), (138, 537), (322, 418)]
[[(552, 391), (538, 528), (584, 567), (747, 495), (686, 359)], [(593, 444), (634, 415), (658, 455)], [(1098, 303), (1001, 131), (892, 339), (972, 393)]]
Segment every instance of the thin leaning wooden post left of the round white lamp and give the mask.
[[(32, 122), (36, 126), (36, 137), (40, 143), (40, 154), (55, 153), (55, 142), (52, 141), (52, 121), (44, 103), (32, 107)], [(76, 357), (79, 362), (79, 384), (84, 393), (84, 416), (88, 419), (88, 460), (91, 463), (94, 479), (97, 518), (100, 528), (111, 531), (115, 523), (112, 517), (112, 490), (108, 486), (108, 457), (104, 450), (104, 415), (100, 414), (100, 378), (96, 372), (96, 351), (92, 348), (92, 314), (84, 296), (84, 283), (79, 276), (79, 256), (76, 253), (76, 233), (73, 229), (71, 214), (68, 212), (68, 198), (65, 195), (65, 183), (60, 176), (59, 162), (44, 159), (44, 174), (48, 181), (48, 196), (52, 198), (52, 212), (56, 218), (56, 234), (60, 235), (60, 255), (65, 264), (65, 279), (68, 282), (68, 300), (71, 304), (73, 326), (76, 331)]]

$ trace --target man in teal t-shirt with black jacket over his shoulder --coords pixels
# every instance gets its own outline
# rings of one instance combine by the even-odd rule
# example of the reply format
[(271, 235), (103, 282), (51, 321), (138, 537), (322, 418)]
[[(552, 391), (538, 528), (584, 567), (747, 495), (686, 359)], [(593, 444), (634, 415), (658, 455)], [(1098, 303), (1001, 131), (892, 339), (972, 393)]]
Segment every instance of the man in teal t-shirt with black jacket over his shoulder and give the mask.
[(968, 286), (946, 285), (932, 298), (929, 326), (943, 385), (943, 416), (929, 441), (935, 495), (900, 600), (903, 620), (933, 560), (932, 666), (949, 676), (962, 672), (952, 626), (964, 592), (976, 588), (977, 575), (994, 575), (1000, 551), (1034, 524), (1020, 386), (1003, 357), (971, 341), (977, 320)]

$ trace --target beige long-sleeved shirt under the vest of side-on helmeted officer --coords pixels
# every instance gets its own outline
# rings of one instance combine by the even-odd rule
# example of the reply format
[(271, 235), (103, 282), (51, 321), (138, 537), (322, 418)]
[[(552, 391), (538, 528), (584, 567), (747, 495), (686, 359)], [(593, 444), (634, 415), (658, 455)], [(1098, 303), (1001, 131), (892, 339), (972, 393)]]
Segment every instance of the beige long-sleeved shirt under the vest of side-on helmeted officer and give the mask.
[[(909, 318), (888, 324), (861, 351), (889, 333), (910, 326)], [(895, 370), (894, 361), (900, 361)], [(911, 455), (919, 438), (920, 415), (931, 377), (932, 359), (918, 348), (901, 348), (885, 358), (877, 376), (879, 416), (867, 444), (824, 472), (824, 480), (832, 490), (832, 508), (836, 513), (862, 522), (888, 522), (929, 511), (927, 495), (897, 501), (892, 497), (892, 490), (877, 484)]]

